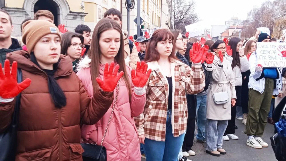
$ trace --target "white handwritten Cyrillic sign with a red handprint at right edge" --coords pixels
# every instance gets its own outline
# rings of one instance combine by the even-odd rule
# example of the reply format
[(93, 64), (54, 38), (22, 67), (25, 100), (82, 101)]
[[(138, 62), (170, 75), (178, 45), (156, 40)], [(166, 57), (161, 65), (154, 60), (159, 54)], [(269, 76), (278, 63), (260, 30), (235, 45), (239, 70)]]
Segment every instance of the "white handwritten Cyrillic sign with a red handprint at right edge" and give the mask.
[(258, 64), (263, 67), (286, 67), (286, 43), (256, 44)]

